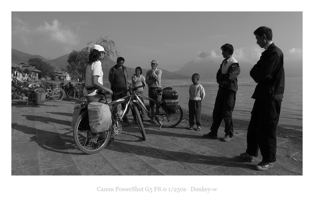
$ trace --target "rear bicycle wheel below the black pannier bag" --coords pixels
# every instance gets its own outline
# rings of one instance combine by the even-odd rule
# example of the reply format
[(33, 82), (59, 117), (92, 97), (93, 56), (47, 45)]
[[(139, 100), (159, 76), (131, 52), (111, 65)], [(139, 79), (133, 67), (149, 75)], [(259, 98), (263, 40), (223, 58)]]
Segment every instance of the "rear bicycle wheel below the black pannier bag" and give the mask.
[(172, 128), (177, 126), (183, 117), (183, 111), (182, 108), (177, 111), (177, 113), (166, 113), (161, 106), (159, 106), (156, 110), (156, 120), (157, 122), (168, 128)]

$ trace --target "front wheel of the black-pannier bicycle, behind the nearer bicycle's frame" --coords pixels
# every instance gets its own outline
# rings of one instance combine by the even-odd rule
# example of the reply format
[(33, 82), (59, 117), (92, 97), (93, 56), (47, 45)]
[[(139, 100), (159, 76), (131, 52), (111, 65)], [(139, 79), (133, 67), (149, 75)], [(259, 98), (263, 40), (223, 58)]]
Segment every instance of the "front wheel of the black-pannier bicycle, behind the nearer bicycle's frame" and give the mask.
[[(116, 117), (121, 117), (122, 112), (126, 108), (126, 104), (127, 104), (126, 101), (120, 101), (120, 102), (117, 102), (116, 104), (114, 104), (112, 106), (112, 108), (111, 108), (111, 119), (112, 119), (112, 121), (116, 121)], [(127, 127), (127, 126), (130, 126), (131, 124), (134, 123), (134, 119), (128, 117), (129, 109), (130, 108), (128, 108), (127, 112), (124, 114), (124, 116), (122, 118), (122, 121), (120, 121), (120, 123), (119, 123), (119, 124), (121, 124), (122, 127)]]

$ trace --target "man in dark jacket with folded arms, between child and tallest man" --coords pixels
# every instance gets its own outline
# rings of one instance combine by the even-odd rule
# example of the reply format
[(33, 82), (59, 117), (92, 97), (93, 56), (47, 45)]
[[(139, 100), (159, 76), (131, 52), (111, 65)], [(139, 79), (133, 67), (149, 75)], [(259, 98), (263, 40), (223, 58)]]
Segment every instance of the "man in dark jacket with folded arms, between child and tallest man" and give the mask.
[(213, 110), (213, 123), (206, 138), (218, 138), (217, 132), (222, 119), (225, 121), (225, 137), (223, 141), (230, 141), (233, 137), (232, 112), (236, 102), (238, 90), (238, 75), (240, 74), (239, 63), (232, 57), (233, 46), (225, 44), (220, 48), (225, 58), (220, 64), (216, 79), (219, 84), (215, 106)]

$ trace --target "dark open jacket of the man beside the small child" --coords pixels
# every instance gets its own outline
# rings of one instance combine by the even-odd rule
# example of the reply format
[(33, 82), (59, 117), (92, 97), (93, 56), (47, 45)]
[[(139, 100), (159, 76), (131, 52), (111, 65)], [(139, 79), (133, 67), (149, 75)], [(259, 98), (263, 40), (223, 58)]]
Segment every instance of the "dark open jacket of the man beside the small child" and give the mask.
[(219, 84), (219, 87), (230, 89), (232, 91), (238, 91), (238, 75), (240, 74), (240, 66), (239, 63), (232, 63), (226, 74), (221, 73), (222, 64), (220, 64), (220, 68), (218, 69), (216, 80)]

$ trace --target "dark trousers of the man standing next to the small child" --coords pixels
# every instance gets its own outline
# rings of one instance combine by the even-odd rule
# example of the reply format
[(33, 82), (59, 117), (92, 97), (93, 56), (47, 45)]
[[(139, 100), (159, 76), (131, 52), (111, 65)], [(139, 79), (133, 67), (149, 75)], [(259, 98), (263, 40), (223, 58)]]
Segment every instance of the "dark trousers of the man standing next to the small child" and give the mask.
[(233, 137), (232, 112), (236, 103), (236, 92), (219, 87), (214, 110), (213, 123), (210, 130), (217, 134), (221, 121), (225, 121), (225, 133)]

